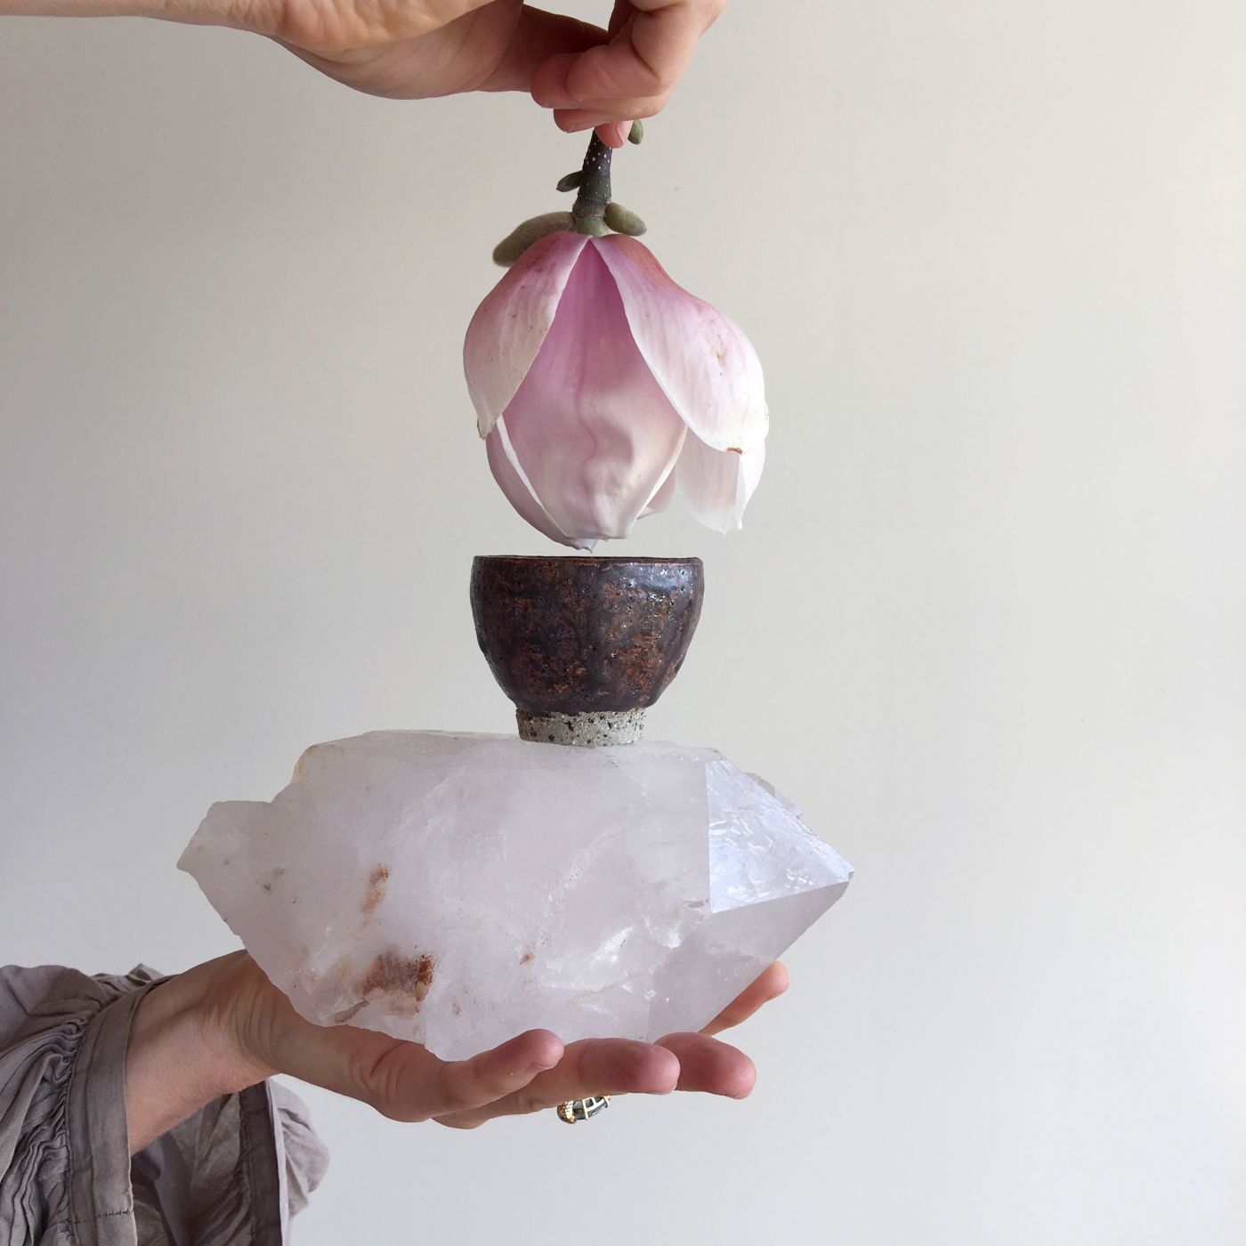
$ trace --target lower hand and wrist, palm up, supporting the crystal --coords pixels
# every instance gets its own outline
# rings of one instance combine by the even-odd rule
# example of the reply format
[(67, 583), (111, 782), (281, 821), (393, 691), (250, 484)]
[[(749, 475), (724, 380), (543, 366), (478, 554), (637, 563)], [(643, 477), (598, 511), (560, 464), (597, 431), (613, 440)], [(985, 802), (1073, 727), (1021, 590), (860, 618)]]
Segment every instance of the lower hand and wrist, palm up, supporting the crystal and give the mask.
[(304, 1020), (245, 952), (197, 966), (151, 991), (135, 1018), (126, 1100), (138, 1150), (219, 1094), (275, 1073), (370, 1104), (394, 1120), (472, 1129), (495, 1116), (598, 1094), (701, 1090), (743, 1099), (753, 1062), (713, 1035), (781, 994), (773, 964), (697, 1034), (657, 1043), (589, 1038), (563, 1043), (535, 1029), (468, 1060), (441, 1060), (354, 1025)]

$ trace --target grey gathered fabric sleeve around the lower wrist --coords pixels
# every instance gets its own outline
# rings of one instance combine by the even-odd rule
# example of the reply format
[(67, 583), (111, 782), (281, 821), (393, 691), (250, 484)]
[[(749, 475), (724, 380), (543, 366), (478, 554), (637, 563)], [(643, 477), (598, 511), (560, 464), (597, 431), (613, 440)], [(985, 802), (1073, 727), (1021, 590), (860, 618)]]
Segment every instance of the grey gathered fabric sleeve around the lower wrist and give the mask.
[(0, 1246), (283, 1246), (328, 1155), (262, 1082), (131, 1161), (126, 1044), (159, 979), (0, 968)]

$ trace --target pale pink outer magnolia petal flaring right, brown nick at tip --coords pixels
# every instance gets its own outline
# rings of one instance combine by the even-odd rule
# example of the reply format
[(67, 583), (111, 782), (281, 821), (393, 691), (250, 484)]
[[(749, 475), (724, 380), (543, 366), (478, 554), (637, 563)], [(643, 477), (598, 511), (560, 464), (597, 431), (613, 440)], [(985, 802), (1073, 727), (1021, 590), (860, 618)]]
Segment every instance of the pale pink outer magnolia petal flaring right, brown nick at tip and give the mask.
[(765, 383), (753, 344), (678, 287), (644, 243), (594, 238), (614, 277), (632, 336), (688, 427), (714, 450), (751, 450), (766, 435)]

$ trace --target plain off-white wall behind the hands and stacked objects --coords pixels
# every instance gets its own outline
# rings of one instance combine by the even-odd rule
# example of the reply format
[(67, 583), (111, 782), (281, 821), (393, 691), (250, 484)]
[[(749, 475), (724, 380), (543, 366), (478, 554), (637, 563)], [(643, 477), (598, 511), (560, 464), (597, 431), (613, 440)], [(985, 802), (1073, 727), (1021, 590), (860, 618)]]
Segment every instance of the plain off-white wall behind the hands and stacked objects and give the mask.
[[(0, 958), (178, 969), (213, 800), (508, 728), (459, 351), (582, 140), (140, 21), (2, 22), (0, 121)], [(857, 878), (748, 1103), (312, 1093), (299, 1240), (1242, 1242), (1246, 7), (736, 4), (616, 187), (774, 412), (745, 532), (632, 542), (709, 576), (652, 733)]]

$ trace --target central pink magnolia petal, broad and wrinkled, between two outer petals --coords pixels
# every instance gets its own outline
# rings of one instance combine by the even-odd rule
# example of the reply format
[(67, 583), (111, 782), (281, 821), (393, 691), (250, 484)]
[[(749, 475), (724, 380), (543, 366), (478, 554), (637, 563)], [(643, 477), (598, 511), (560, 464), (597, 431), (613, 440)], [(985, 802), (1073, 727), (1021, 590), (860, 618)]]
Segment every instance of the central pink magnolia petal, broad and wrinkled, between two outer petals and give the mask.
[(506, 431), (533, 496), (577, 542), (628, 536), (679, 457), (688, 430), (632, 341), (593, 247), (506, 409)]

